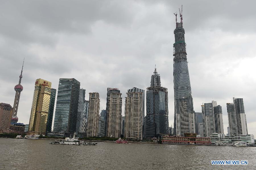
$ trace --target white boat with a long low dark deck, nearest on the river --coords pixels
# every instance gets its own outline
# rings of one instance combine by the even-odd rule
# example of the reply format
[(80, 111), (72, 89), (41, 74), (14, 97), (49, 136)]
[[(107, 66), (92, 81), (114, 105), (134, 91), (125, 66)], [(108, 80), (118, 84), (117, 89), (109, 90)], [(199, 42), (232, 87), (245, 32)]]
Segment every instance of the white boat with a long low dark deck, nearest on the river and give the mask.
[(78, 137), (75, 137), (76, 133), (74, 133), (73, 138), (66, 137), (65, 141), (54, 141), (50, 142), (50, 144), (54, 145), (97, 145), (98, 143), (86, 143), (84, 141), (80, 141)]

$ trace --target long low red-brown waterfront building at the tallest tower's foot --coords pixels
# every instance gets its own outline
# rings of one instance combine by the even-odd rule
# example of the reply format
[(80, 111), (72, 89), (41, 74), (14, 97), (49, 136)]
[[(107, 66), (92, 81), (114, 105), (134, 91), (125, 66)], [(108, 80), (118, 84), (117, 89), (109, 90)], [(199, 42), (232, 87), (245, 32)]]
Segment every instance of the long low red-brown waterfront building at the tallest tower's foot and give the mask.
[(163, 136), (162, 144), (211, 145), (211, 140), (209, 137)]

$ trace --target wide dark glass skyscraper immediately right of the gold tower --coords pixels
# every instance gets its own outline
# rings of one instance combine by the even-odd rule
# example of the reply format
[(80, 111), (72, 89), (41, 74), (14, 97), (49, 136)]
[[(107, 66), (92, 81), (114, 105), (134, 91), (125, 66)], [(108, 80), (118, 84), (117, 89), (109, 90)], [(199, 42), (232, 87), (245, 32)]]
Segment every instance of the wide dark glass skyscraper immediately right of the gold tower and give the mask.
[(80, 82), (75, 78), (60, 78), (53, 131), (64, 132), (65, 136), (75, 132)]

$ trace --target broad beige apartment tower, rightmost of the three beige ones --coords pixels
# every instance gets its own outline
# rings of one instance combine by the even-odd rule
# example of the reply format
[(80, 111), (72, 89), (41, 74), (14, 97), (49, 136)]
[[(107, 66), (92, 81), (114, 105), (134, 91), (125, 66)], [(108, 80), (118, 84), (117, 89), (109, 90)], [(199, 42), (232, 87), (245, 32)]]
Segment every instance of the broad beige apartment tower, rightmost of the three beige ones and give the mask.
[(144, 90), (134, 87), (129, 89), (126, 94), (123, 135), (129, 140), (141, 141), (143, 136)]

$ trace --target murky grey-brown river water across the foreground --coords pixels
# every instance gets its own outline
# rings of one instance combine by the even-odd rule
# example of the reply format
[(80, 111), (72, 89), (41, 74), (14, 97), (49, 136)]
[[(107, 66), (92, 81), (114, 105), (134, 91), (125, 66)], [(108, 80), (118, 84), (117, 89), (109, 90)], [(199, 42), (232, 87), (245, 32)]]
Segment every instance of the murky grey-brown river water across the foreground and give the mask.
[[(49, 142), (0, 138), (0, 169), (256, 169), (256, 147)], [(211, 160), (248, 160), (248, 165), (211, 165)]]

